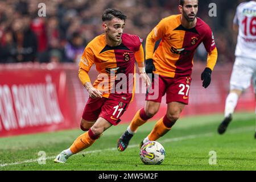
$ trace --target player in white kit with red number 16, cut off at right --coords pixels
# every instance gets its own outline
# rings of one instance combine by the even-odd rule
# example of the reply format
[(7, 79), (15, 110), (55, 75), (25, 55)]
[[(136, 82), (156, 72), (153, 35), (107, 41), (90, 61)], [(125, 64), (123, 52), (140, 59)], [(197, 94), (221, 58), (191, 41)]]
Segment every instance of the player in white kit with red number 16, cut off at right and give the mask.
[[(256, 98), (256, 1), (243, 2), (237, 7), (233, 20), (233, 29), (238, 31), (236, 60), (230, 78), (230, 92), (226, 98), (225, 118), (218, 126), (218, 133), (226, 131), (232, 114), (237, 106), (238, 98), (254, 81)], [(255, 110), (256, 112), (256, 110)], [(256, 139), (256, 129), (255, 129)]]

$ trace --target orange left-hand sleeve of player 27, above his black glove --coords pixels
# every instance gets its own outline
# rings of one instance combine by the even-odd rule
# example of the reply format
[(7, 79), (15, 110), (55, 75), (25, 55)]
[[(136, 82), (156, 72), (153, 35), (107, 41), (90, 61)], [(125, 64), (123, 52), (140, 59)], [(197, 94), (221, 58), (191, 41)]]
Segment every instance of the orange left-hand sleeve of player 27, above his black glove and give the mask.
[(166, 20), (162, 19), (147, 36), (146, 59), (152, 59), (154, 54), (155, 42), (159, 39), (162, 39), (164, 34), (166, 34)]

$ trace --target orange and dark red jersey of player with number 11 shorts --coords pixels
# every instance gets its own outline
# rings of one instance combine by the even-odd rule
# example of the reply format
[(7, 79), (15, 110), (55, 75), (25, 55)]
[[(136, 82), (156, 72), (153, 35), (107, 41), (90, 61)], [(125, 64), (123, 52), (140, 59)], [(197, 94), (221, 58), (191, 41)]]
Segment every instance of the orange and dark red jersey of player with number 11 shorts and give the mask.
[[(79, 72), (88, 73), (95, 64), (100, 74), (94, 81), (93, 87), (104, 93), (102, 97), (113, 100), (121, 98), (123, 102), (130, 102), (134, 94), (135, 78), (131, 77), (131, 74), (135, 73), (135, 61), (144, 62), (142, 39), (137, 35), (123, 34), (122, 43), (119, 46), (110, 47), (106, 44), (105, 36), (105, 34), (97, 36), (85, 47), (79, 63)], [(122, 79), (118, 80), (118, 73), (127, 78), (126, 93), (117, 93), (117, 90), (113, 90), (118, 82), (122, 81)], [(90, 81), (79, 77), (82, 84)]]

